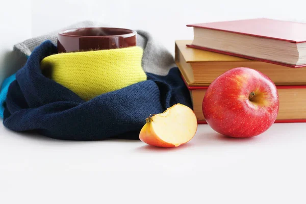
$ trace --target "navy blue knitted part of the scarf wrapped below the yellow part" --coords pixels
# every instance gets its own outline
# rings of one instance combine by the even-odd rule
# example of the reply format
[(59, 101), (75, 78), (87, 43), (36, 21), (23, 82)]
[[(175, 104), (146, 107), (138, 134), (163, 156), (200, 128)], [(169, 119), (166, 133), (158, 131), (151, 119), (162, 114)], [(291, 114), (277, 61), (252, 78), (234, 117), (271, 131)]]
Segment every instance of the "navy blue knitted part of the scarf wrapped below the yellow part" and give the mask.
[(63, 140), (139, 139), (150, 114), (177, 103), (191, 108), (177, 67), (166, 76), (147, 73), (147, 81), (84, 101), (42, 73), (40, 61), (56, 53), (57, 47), (45, 41), (16, 73), (4, 111), (8, 129)]

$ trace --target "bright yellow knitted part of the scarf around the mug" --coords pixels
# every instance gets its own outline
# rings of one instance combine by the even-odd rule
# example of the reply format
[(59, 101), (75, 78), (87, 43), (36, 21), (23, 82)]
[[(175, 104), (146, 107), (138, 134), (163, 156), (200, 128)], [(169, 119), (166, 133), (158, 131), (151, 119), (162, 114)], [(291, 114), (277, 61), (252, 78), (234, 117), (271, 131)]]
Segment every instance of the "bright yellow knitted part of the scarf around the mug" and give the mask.
[(84, 100), (145, 81), (141, 66), (143, 49), (138, 46), (60, 53), (41, 61), (49, 78)]

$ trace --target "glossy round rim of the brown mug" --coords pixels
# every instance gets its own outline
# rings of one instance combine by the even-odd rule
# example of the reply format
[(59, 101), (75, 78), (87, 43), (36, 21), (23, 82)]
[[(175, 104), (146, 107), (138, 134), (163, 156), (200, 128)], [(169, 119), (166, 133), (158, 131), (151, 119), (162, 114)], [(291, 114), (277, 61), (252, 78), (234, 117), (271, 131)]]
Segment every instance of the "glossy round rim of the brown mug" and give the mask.
[[(68, 32), (75, 32), (81, 29), (117, 29), (117, 30), (121, 30), (121, 31), (128, 31), (130, 33), (126, 33), (126, 34), (120, 34), (120, 35), (71, 35), (71, 34), (65, 34)], [(109, 37), (132, 37), (134, 35), (137, 34), (136, 31), (131, 30), (131, 29), (124, 29), (124, 28), (113, 28), (113, 27), (84, 27), (84, 28), (74, 28), (74, 29), (67, 29), (67, 30), (63, 30), (63, 31), (59, 31), (58, 32), (59, 35), (62, 36), (67, 36), (67, 37), (86, 37), (86, 38), (109, 38)]]

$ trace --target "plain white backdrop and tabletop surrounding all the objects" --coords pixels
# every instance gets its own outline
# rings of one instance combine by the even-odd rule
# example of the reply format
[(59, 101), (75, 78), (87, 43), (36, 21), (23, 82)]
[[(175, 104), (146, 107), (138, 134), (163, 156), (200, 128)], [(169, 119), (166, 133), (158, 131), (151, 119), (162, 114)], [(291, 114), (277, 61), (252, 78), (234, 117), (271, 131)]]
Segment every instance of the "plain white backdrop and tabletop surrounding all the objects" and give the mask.
[[(174, 40), (192, 39), (188, 23), (254, 17), (306, 22), (305, 3), (1, 0), (0, 79), (13, 44), (78, 21), (149, 31), (173, 54)], [(305, 155), (303, 123), (274, 124), (247, 140), (199, 125), (188, 145), (172, 150), (57, 141), (0, 125), (0, 203), (305, 203)]]

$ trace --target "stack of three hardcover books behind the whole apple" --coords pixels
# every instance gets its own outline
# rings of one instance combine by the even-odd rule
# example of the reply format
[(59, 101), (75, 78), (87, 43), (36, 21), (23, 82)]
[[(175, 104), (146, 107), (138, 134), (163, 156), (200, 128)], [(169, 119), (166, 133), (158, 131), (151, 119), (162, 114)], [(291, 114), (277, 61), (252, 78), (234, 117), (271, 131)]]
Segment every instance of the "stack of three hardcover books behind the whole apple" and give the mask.
[(198, 123), (206, 123), (202, 101), (208, 86), (236, 67), (256, 69), (274, 82), (275, 122), (306, 122), (306, 24), (260, 18), (187, 26), (194, 39), (175, 41), (175, 62)]

